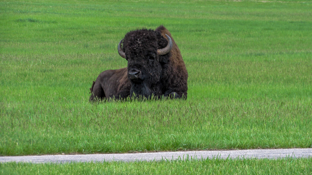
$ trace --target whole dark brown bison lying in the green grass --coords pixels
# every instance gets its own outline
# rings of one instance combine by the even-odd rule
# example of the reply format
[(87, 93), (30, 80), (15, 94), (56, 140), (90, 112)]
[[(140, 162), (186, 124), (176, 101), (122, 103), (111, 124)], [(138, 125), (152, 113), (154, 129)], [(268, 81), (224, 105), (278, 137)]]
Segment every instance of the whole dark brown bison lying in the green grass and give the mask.
[(100, 73), (90, 88), (91, 102), (127, 97), (187, 98), (188, 72), (164, 26), (128, 32), (119, 42), (118, 53), (128, 61), (128, 67)]

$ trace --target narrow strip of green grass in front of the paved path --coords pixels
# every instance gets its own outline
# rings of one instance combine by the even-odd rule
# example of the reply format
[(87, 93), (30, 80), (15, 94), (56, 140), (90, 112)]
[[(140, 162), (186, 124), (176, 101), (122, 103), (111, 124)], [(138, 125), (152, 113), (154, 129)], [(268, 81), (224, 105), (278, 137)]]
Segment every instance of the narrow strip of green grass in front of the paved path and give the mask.
[(312, 174), (311, 158), (187, 159), (153, 162), (0, 163), (2, 174)]

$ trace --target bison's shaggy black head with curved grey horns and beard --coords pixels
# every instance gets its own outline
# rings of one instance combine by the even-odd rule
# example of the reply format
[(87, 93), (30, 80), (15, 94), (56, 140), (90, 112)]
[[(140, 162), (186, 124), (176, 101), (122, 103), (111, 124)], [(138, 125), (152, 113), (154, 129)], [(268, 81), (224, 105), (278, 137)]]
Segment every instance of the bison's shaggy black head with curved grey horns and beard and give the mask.
[[(130, 97), (160, 97), (163, 64), (169, 62), (172, 40), (160, 32), (136, 30), (127, 33), (119, 42), (118, 53), (128, 60), (128, 78), (131, 82)], [(121, 44), (123, 45), (121, 47)]]

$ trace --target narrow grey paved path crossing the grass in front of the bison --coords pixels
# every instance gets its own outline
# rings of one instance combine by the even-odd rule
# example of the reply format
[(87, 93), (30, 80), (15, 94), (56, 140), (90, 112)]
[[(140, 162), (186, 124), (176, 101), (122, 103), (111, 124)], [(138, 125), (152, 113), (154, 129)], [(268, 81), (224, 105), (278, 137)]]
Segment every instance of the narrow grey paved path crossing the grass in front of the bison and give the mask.
[(90, 161), (152, 161), (177, 158), (301, 158), (311, 157), (312, 148), (307, 149), (247, 149), (230, 151), (183, 151), (157, 152), (137, 154), (82, 154), (82, 155), (44, 155), (44, 156), (4, 156), (0, 162), (32, 162), (32, 163), (60, 163), (60, 162), (90, 162)]

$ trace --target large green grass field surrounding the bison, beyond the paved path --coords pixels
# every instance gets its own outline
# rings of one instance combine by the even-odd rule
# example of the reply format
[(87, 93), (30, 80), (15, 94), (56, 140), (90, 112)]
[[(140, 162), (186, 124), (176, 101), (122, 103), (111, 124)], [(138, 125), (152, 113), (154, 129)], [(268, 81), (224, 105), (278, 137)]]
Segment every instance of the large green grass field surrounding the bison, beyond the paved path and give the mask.
[[(0, 2), (0, 155), (311, 148), (311, 7)], [(127, 65), (120, 39), (160, 24), (183, 55), (188, 99), (89, 103), (97, 75)]]

